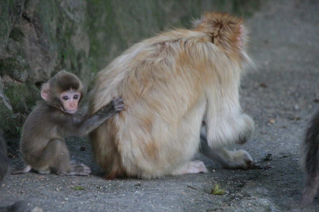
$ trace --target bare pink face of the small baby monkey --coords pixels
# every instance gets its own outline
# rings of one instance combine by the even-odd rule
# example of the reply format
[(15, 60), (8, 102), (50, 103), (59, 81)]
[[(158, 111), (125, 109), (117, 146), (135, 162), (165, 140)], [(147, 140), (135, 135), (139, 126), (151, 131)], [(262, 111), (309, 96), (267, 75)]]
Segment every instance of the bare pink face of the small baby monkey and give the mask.
[(77, 91), (69, 90), (60, 95), (60, 100), (63, 104), (63, 109), (66, 113), (73, 114), (78, 110), (78, 103), (81, 94)]

